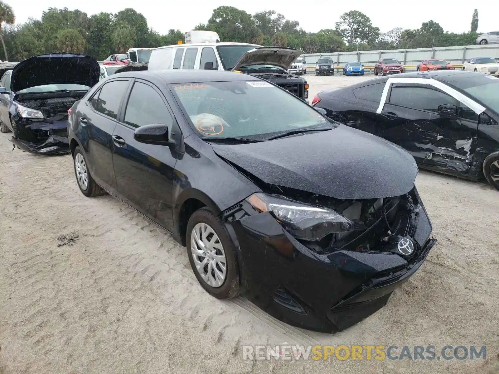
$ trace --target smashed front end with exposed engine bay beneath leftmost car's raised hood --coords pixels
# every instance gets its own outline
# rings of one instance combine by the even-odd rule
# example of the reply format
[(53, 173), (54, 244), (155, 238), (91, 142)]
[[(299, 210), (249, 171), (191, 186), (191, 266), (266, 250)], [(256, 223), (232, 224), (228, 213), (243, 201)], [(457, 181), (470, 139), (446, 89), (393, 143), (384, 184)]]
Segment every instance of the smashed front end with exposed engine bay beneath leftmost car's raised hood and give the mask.
[(18, 95), (15, 102), (23, 107), (24, 116), (18, 115), (14, 119), (16, 131), (12, 142), (28, 152), (68, 153), (67, 112), (86, 93), (87, 91), (73, 91)]

